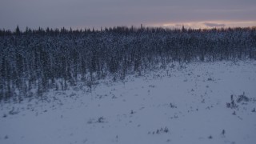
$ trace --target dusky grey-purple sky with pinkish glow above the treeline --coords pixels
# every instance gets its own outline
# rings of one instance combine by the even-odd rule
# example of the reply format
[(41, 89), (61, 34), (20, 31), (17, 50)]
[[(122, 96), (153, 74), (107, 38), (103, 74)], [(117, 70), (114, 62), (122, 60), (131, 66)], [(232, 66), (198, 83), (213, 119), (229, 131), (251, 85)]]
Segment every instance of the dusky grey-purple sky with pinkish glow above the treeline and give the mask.
[(0, 0), (0, 29), (256, 26), (256, 0)]

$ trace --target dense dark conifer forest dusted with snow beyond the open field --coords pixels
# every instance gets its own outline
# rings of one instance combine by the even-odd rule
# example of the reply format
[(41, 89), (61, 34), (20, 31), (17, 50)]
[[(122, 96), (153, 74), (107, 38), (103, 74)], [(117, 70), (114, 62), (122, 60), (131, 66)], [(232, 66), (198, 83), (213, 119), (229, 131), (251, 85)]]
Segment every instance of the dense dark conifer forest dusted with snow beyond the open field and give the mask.
[(112, 27), (101, 30), (0, 30), (0, 101), (90, 87), (165, 69), (172, 62), (256, 59), (256, 28), (210, 30)]

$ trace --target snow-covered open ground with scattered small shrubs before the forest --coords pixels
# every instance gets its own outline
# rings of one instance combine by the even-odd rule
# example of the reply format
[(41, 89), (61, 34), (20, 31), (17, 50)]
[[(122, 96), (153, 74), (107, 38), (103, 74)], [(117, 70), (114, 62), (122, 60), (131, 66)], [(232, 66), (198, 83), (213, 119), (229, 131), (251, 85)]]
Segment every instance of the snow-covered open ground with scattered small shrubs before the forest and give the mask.
[(0, 143), (256, 142), (255, 61), (170, 66), (47, 97), (1, 103)]

